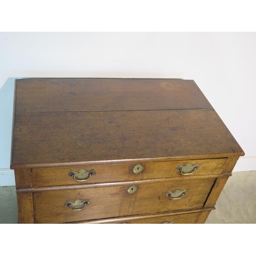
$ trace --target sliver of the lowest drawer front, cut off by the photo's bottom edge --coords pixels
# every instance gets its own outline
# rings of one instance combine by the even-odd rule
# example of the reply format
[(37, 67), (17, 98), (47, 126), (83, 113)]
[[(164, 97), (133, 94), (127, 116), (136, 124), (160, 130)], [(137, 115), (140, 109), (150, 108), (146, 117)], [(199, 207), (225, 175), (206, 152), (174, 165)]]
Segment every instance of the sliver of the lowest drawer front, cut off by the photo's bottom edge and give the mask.
[(127, 224), (193, 224), (197, 223), (197, 219), (201, 212), (196, 212), (194, 214), (179, 214), (179, 215), (169, 215), (164, 217), (147, 218), (147, 219), (137, 219), (137, 220), (127, 220), (115, 223), (127, 223)]

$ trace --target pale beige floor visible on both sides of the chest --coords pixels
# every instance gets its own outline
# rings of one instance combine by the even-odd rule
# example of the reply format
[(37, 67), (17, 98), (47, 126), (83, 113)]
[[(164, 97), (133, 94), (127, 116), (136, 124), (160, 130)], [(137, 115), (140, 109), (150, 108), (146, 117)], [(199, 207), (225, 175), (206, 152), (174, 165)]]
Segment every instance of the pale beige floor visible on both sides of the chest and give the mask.
[[(233, 173), (206, 223), (256, 223), (255, 184), (256, 171)], [(0, 187), (0, 223), (18, 223), (14, 186)]]

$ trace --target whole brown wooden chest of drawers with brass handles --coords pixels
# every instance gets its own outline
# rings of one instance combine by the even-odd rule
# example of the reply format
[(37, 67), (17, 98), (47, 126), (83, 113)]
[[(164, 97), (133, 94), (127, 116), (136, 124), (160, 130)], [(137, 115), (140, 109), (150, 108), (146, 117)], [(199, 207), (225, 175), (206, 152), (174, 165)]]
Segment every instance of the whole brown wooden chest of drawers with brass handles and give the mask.
[(193, 80), (17, 79), (19, 223), (204, 223), (243, 150)]

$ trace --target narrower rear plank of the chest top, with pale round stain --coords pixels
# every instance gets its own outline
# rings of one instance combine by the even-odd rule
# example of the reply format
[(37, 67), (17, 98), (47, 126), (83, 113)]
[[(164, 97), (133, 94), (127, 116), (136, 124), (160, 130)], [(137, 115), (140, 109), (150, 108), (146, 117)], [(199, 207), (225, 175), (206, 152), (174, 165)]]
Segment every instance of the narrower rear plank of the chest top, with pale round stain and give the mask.
[(212, 109), (193, 80), (32, 78), (17, 80), (17, 113)]

